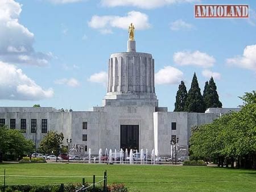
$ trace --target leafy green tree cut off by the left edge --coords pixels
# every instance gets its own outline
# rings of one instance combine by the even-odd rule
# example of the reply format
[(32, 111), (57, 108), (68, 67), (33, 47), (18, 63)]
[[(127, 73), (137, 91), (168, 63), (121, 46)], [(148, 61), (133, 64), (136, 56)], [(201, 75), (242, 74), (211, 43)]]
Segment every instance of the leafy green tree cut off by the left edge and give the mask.
[(26, 139), (19, 130), (0, 126), (0, 149), (3, 160), (16, 160), (34, 151), (34, 143)]

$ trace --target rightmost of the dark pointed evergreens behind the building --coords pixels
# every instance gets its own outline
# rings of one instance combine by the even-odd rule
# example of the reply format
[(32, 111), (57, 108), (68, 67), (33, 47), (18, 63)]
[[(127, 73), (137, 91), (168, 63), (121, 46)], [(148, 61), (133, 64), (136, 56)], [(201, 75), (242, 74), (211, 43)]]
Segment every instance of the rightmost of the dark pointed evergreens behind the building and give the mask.
[(222, 107), (222, 103), (218, 99), (217, 86), (213, 80), (213, 77), (210, 78), (209, 85), (204, 95), (205, 108), (209, 107)]

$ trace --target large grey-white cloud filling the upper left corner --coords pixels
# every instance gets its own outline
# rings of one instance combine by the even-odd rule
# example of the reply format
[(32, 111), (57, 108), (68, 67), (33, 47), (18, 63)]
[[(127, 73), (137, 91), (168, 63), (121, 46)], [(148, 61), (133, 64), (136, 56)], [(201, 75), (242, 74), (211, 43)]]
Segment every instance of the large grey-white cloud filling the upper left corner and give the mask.
[(19, 23), (22, 5), (14, 0), (0, 1), (0, 60), (18, 64), (47, 65), (48, 53), (35, 52), (34, 34)]

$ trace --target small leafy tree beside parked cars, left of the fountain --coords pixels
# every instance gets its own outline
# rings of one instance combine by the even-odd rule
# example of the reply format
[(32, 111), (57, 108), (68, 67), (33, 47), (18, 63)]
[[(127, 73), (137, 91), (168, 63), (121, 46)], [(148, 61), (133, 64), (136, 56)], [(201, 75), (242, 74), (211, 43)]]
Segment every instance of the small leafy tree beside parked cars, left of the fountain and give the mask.
[(63, 139), (63, 133), (49, 131), (41, 140), (39, 144), (39, 151), (44, 154), (50, 154), (53, 152), (54, 155), (59, 155)]

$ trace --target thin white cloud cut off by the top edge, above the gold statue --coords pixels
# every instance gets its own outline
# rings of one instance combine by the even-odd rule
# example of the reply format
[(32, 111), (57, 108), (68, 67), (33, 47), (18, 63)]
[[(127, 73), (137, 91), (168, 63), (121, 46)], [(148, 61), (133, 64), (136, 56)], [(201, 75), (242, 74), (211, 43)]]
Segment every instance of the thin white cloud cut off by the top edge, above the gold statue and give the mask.
[(174, 3), (192, 3), (198, 1), (199, 0), (101, 0), (101, 4), (108, 7), (134, 6), (142, 9), (154, 9)]

